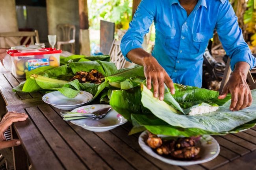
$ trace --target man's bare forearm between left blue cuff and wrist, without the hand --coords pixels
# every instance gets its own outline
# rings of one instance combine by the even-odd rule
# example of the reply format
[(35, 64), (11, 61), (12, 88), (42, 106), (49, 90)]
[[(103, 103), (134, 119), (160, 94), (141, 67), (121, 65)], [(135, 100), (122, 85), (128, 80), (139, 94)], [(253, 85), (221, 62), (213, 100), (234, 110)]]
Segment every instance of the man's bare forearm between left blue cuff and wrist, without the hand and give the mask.
[(155, 60), (155, 58), (152, 57), (150, 53), (148, 53), (142, 48), (132, 49), (127, 53), (127, 57), (135, 64), (139, 64), (141, 66), (145, 66), (145, 64), (149, 62), (151, 59)]

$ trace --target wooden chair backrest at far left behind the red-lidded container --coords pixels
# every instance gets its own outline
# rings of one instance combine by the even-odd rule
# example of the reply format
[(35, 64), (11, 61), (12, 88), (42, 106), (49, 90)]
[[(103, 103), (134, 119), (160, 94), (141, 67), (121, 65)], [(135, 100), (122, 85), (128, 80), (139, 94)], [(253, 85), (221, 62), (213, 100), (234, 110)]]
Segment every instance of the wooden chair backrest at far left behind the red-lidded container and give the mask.
[[(35, 38), (35, 40), (34, 40)], [(18, 31), (0, 33), (0, 48), (39, 43), (38, 31)]]

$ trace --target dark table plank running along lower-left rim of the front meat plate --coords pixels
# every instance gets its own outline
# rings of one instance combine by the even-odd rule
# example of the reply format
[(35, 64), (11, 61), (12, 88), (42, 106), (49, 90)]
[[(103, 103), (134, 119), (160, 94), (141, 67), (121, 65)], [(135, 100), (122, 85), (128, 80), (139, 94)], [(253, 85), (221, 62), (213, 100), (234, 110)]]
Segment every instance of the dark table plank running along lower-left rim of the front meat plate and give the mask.
[(114, 133), (117, 137), (119, 137), (122, 141), (124, 141), (126, 144), (128, 144), (131, 148), (133, 148), (135, 151), (137, 151), (140, 155), (142, 155), (143, 157), (145, 157), (148, 161), (150, 161), (152, 164), (156, 165), (158, 168), (162, 169), (162, 170), (182, 170), (182, 168), (178, 167), (178, 166), (173, 166), (167, 163), (164, 163), (150, 155), (148, 155), (147, 153), (145, 153), (141, 147), (139, 146), (138, 143), (138, 138), (135, 137), (134, 135), (128, 135), (128, 131), (126, 131), (124, 128), (122, 127), (117, 127), (113, 130), (111, 130), (112, 133)]

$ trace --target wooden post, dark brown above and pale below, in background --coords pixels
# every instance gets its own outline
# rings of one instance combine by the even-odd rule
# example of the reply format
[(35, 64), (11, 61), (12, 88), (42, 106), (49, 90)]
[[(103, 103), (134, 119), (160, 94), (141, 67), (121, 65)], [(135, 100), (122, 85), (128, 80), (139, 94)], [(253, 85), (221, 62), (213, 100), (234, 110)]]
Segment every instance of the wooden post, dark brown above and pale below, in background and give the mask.
[(89, 20), (88, 20), (88, 7), (87, 0), (78, 0), (79, 8), (79, 44), (80, 54), (89, 56), (90, 50), (90, 38), (89, 38)]

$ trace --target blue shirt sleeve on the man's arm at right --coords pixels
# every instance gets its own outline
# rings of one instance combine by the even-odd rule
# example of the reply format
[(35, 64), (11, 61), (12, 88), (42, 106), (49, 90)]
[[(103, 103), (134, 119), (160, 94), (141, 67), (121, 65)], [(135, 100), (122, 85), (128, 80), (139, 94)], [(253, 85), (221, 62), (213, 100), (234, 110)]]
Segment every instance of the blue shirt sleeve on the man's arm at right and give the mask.
[(231, 69), (234, 70), (236, 63), (241, 61), (247, 62), (252, 69), (255, 58), (243, 38), (236, 14), (228, 1), (219, 8), (216, 29), (226, 54), (231, 58)]

